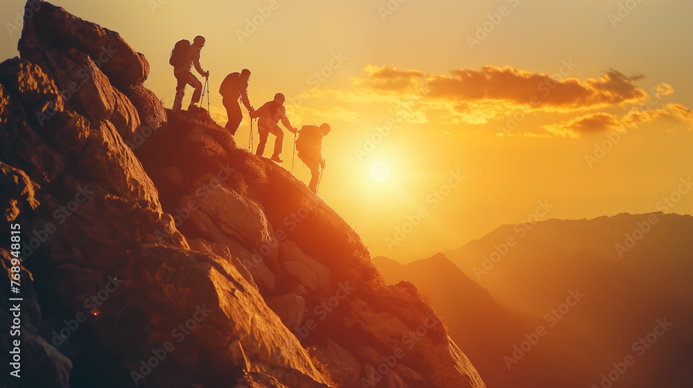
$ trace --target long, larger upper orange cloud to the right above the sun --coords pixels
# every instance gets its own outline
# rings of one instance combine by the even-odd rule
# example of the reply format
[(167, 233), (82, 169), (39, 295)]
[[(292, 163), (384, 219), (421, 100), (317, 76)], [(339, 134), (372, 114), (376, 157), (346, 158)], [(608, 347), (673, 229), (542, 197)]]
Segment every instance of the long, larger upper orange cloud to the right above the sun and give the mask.
[[(568, 75), (577, 66), (566, 62), (561, 69)], [(611, 70), (599, 78), (578, 80), (564, 78), (561, 73), (553, 77), (512, 67), (484, 66), (480, 70), (456, 69), (449, 75), (424, 74), (417, 70), (399, 70), (395, 67), (364, 68), (365, 77), (351, 78), (356, 89), (351, 91), (319, 91), (348, 103), (392, 103), (401, 100), (419, 100), (420, 108), (406, 116), (411, 123), (423, 123), (431, 109), (442, 109), (443, 123), (482, 124), (493, 118), (502, 118), (516, 110), (568, 113), (584, 109), (599, 109), (640, 103), (647, 92), (634, 82), (642, 76), (625, 76)], [(673, 89), (657, 89), (657, 94), (670, 94)], [(318, 95), (314, 95), (320, 98)]]

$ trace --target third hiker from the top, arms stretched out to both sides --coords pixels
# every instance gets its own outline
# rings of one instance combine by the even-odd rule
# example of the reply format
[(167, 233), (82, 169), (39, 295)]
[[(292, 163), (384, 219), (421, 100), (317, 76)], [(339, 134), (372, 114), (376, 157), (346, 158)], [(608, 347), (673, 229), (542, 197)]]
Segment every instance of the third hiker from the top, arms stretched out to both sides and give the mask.
[(250, 118), (258, 119), (258, 133), (260, 134), (260, 143), (258, 143), (258, 149), (255, 155), (261, 157), (265, 152), (265, 144), (267, 143), (267, 136), (270, 133), (277, 136), (274, 140), (274, 153), (270, 160), (281, 163), (282, 160), (279, 159), (279, 154), (281, 154), (281, 143), (284, 141), (284, 132), (279, 127), (279, 121), (286, 127), (289, 132), (296, 133), (297, 128), (292, 127), (289, 123), (289, 119), (286, 117), (286, 108), (284, 107), (284, 95), (277, 93), (274, 95), (274, 100), (265, 103), (260, 109), (256, 109), (250, 114)]

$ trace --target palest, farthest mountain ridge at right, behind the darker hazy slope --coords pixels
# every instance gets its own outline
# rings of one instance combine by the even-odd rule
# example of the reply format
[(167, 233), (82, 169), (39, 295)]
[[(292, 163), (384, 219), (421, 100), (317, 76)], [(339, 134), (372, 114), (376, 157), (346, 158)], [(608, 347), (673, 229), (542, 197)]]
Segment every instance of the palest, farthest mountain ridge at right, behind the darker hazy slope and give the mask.
[[(648, 233), (643, 233), (641, 240), (635, 241), (629, 252), (619, 255), (615, 246), (626, 247), (624, 235), (632, 235), (639, 229), (638, 224), (649, 223), (648, 218), (654, 218), (656, 223)], [(509, 237), (514, 238), (516, 246), (509, 247), (506, 256), (501, 255), (500, 263), (493, 263), (491, 270), (484, 270), (484, 257), (502, 250)], [(689, 281), (693, 274), (693, 216), (690, 215), (622, 213), (593, 220), (503, 225), (479, 240), (446, 252), (446, 256), (498, 299), (538, 314), (543, 306), (536, 306), (533, 301), (540, 300), (536, 294), (545, 290), (526, 289), (522, 285), (530, 279), (547, 281), (543, 275), (554, 274), (552, 267), (564, 263), (559, 258), (565, 259), (583, 249), (593, 249), (667, 297), (693, 307), (689, 297), (693, 295), (693, 282)], [(510, 289), (509, 285), (518, 287)], [(525, 289), (534, 294), (524, 294)]]

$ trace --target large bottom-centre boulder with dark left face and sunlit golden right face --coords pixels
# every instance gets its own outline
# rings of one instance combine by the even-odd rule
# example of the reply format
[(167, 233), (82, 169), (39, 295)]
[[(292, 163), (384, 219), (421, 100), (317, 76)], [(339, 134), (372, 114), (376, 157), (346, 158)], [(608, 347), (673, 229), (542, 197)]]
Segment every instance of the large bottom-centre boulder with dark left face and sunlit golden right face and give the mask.
[[(123, 287), (132, 287), (127, 294), (137, 296), (128, 306), (146, 312), (154, 327), (141, 344), (142, 353), (127, 364), (135, 367), (146, 349), (171, 340), (171, 328), (193, 319), (200, 328), (191, 329), (190, 339), (177, 342), (180, 351), (171, 353), (177, 359), (172, 367), (185, 366), (177, 373), (188, 369), (199, 375), (207, 369), (211, 381), (220, 384), (221, 376), (240, 367), (274, 376), (290, 387), (324, 383), (308, 353), (235, 267), (222, 267), (207, 255), (183, 249), (150, 246), (133, 253), (138, 260), (122, 270)], [(99, 332), (104, 340), (119, 333), (107, 328)], [(275, 356), (277, 351), (282, 357)], [(209, 365), (202, 367), (202, 360), (209, 360)], [(168, 372), (161, 376), (173, 370)]]

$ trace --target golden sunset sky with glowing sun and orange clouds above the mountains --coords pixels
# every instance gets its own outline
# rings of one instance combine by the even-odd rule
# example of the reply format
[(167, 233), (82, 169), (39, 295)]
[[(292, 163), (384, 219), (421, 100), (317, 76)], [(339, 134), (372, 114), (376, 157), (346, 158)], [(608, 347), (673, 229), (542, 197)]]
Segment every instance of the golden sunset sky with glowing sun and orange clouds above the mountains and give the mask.
[[(243, 68), (254, 107), (282, 92), (293, 125), (331, 123), (319, 194), (373, 256), (411, 261), (535, 218), (693, 213), (690, 2), (53, 3), (145, 54), (166, 107), (173, 44), (203, 35), (220, 125), (220, 82)], [(23, 6), (0, 4), (3, 58)], [(310, 179), (298, 159), (294, 171)]]

